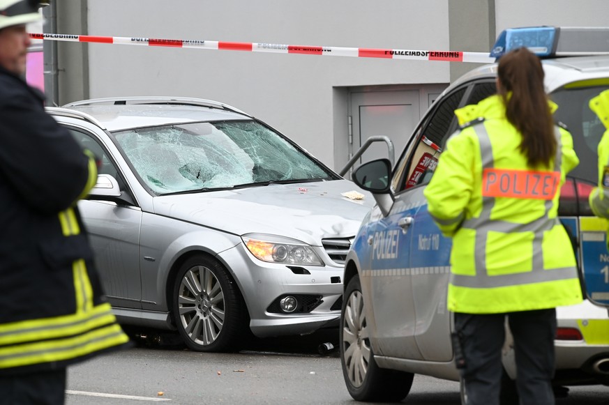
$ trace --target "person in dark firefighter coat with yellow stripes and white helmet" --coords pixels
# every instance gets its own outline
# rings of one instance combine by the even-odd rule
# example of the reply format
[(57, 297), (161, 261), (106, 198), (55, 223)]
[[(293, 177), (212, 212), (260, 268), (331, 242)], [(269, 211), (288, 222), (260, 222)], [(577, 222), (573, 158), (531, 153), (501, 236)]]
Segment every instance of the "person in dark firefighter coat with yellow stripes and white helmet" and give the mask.
[(0, 0), (0, 404), (63, 404), (66, 367), (128, 342), (76, 201), (96, 162), (22, 76), (37, 0)]

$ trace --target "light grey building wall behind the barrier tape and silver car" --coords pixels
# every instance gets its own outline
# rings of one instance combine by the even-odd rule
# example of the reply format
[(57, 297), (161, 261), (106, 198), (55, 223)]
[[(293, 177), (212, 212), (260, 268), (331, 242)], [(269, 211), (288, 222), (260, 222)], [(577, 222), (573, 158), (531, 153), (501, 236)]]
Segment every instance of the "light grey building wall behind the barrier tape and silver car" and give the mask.
[[(606, 0), (54, 1), (58, 33), (331, 47), (488, 52), (510, 26), (609, 24)], [(446, 85), (475, 66), (77, 43), (62, 44), (58, 60), (59, 104), (210, 98), (266, 121), (334, 169), (347, 160), (350, 89)]]

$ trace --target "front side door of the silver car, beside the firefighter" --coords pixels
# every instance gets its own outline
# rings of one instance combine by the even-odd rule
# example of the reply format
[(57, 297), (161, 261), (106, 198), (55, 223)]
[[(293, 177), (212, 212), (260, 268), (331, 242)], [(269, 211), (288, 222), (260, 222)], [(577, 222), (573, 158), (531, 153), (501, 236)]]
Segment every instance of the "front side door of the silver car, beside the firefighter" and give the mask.
[[(99, 174), (110, 174), (124, 185), (116, 163), (92, 132), (68, 127), (83, 148), (100, 158)], [(127, 190), (125, 190), (128, 192)], [(87, 231), (104, 291), (113, 307), (142, 307), (140, 277), (140, 226), (142, 211), (130, 204), (98, 201), (88, 197), (78, 208)]]

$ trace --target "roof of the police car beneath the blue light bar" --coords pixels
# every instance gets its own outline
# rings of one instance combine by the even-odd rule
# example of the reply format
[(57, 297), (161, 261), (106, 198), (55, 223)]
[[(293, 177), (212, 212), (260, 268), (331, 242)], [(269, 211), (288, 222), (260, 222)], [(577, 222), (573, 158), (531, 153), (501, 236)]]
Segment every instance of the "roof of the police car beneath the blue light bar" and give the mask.
[[(552, 93), (552, 91), (571, 82), (609, 77), (609, 55), (568, 56), (543, 59), (541, 63), (546, 74), (548, 93)], [(451, 91), (451, 89), (474, 79), (494, 78), (496, 75), (497, 63), (480, 66), (459, 77), (444, 92)]]

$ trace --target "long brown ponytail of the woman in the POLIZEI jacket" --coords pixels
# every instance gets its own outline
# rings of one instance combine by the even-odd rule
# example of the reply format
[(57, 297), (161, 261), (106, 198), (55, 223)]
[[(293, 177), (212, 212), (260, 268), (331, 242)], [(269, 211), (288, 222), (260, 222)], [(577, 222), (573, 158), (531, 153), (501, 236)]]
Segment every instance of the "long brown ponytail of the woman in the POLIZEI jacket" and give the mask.
[(520, 152), (527, 157), (529, 167), (547, 167), (555, 156), (557, 142), (541, 61), (527, 48), (518, 48), (499, 59), (497, 74), (506, 118), (522, 134)]

